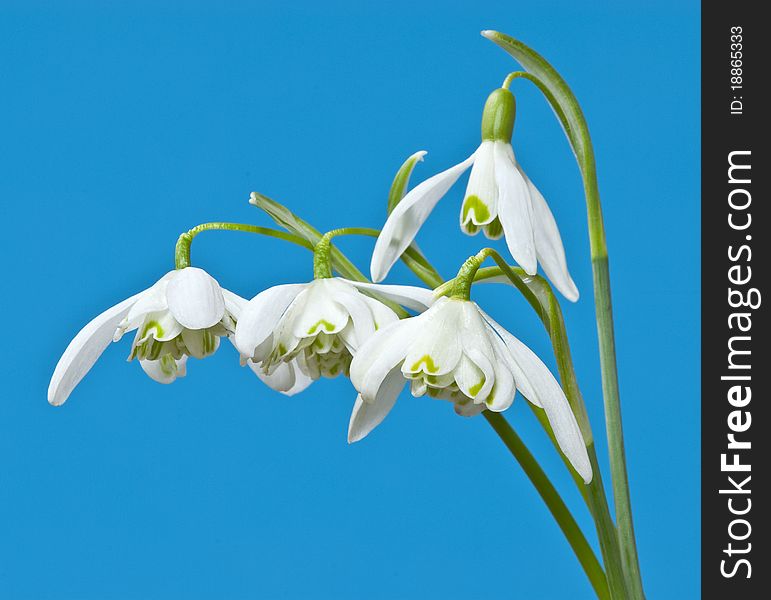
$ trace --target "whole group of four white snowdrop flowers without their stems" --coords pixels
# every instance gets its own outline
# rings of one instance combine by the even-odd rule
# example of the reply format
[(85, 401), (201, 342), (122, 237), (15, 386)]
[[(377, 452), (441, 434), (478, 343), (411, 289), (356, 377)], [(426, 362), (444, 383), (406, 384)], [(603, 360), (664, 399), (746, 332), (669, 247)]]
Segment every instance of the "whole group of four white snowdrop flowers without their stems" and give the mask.
[[(372, 256), (373, 281), (386, 276), (438, 200), (473, 164), (461, 209), (463, 231), (505, 235), (527, 273), (535, 274), (540, 262), (568, 299), (578, 298), (554, 217), (514, 159), (513, 101), (508, 90), (496, 90), (485, 106), (481, 146), (417, 185), (392, 211)], [(416, 315), (400, 318), (394, 305)], [(408, 382), (413, 396), (448, 400), (467, 416), (506, 410), (519, 389), (545, 410), (577, 472), (587, 482), (592, 478), (576, 418), (554, 376), (467, 298), (321, 276), (269, 288), (247, 301), (205, 271), (184, 266), (86, 325), (56, 366), (48, 401), (64, 403), (110, 341), (133, 330), (129, 360), (139, 359), (160, 383), (184, 376), (187, 358), (213, 354), (222, 337), (238, 349), (242, 364), (283, 394), (296, 394), (322, 377), (350, 377), (358, 391), (350, 442), (383, 421)]]

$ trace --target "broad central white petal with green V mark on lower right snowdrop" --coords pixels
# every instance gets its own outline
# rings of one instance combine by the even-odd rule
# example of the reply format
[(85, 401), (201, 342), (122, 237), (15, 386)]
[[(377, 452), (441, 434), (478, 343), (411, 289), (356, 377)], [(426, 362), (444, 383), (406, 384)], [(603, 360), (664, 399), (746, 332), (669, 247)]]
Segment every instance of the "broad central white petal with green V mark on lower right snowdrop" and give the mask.
[(451, 373), (461, 359), (463, 347), (463, 301), (441, 298), (423, 313), (423, 328), (410, 344), (402, 372), (441, 376)]

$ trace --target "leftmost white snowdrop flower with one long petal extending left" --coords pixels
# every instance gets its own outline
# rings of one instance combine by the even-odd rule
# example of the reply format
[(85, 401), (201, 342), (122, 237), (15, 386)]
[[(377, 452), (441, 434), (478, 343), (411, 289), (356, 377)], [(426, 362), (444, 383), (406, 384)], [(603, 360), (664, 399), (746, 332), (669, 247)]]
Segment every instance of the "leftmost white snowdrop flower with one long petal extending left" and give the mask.
[(183, 377), (188, 356), (209, 356), (219, 347), (220, 337), (234, 333), (245, 302), (202, 269), (167, 273), (80, 330), (56, 365), (48, 402), (63, 404), (110, 341), (134, 330), (129, 360), (139, 359), (145, 373), (159, 383)]

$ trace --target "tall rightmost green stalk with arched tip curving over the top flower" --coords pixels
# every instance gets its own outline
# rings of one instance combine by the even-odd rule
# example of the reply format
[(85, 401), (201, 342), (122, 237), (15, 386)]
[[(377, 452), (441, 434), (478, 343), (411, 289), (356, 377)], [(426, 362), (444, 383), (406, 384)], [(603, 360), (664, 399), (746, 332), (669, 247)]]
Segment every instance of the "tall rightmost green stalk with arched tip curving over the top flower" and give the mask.
[(498, 44), (513, 56), (527, 71), (527, 79), (536, 84), (544, 94), (560, 121), (576, 156), (584, 182), (589, 243), (594, 279), (594, 304), (597, 314), (597, 335), (600, 346), (600, 370), (605, 404), (605, 427), (608, 435), (610, 472), (613, 484), (613, 499), (618, 520), (618, 536), (622, 549), (624, 573), (629, 584), (630, 597), (644, 598), (637, 545), (632, 521), (632, 505), (624, 449), (624, 433), (621, 423), (621, 401), (619, 398), (618, 369), (616, 365), (613, 311), (608, 269), (608, 248), (605, 226), (597, 184), (589, 128), (581, 106), (560, 74), (540, 54), (519, 40), (496, 31), (483, 31), (489, 40)]

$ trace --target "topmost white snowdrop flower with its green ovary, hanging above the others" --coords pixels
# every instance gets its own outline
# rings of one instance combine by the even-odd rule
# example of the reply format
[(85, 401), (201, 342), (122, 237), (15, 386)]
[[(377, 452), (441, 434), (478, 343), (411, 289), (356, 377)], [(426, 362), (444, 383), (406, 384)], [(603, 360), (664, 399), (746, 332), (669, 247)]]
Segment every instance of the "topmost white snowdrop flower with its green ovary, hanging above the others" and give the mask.
[(469, 235), (481, 229), (491, 239), (505, 236), (512, 257), (528, 274), (535, 275), (540, 263), (568, 300), (578, 299), (554, 216), (514, 158), (511, 134), (515, 113), (514, 95), (508, 89), (490, 94), (477, 150), (462, 163), (415, 186), (391, 212), (372, 255), (373, 281), (385, 278), (437, 202), (472, 167), (460, 211), (461, 229)]

